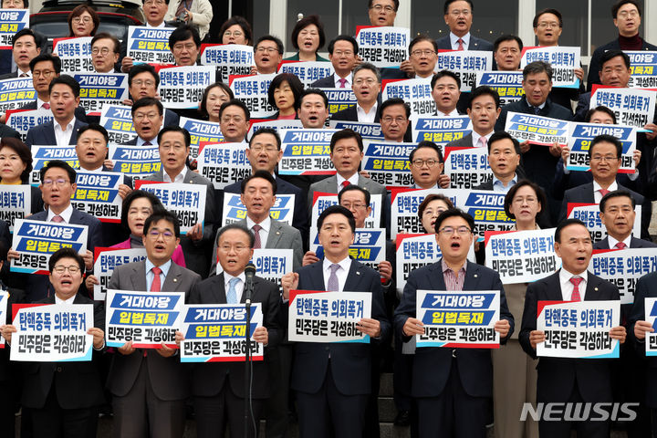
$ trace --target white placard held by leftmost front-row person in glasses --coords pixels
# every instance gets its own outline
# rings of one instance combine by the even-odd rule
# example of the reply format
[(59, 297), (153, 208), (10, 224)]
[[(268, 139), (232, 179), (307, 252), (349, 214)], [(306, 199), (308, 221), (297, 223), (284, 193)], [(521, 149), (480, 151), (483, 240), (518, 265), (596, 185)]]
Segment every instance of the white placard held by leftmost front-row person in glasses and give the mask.
[(92, 304), (50, 304), (18, 308), (13, 321), (11, 360), (89, 361), (94, 327)]

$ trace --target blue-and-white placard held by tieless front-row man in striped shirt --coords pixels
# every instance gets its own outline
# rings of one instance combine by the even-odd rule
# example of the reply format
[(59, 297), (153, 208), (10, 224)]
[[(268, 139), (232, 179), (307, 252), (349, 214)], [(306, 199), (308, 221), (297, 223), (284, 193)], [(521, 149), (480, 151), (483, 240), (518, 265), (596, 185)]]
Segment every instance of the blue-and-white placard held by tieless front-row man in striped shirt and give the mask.
[(418, 290), (416, 315), (424, 334), (417, 347), (499, 349), (499, 290)]

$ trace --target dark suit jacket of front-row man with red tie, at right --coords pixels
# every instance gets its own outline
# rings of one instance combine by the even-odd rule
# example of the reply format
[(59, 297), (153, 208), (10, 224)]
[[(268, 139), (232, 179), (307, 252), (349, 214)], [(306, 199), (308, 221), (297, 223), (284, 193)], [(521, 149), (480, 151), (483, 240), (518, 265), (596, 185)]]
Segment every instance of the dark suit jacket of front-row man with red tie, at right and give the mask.
[[(612, 283), (589, 272), (585, 301), (618, 300), (619, 290)], [(558, 271), (530, 283), (525, 296), (522, 328), (518, 340), (527, 354), (537, 359), (529, 333), (537, 329), (538, 301), (562, 301)], [(538, 360), (537, 401), (568, 401), (575, 389), (585, 402), (611, 401), (611, 361), (605, 359), (540, 358)]]

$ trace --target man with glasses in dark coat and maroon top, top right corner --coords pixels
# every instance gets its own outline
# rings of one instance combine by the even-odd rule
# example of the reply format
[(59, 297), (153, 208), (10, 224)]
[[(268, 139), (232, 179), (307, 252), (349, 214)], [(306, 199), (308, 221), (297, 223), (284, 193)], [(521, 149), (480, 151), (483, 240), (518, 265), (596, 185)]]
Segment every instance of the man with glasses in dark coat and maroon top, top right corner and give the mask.
[(587, 90), (593, 84), (600, 84), (598, 72), (601, 70), (601, 57), (609, 50), (657, 50), (657, 46), (645, 41), (639, 35), (641, 26), (641, 5), (636, 0), (618, 0), (611, 6), (614, 26), (619, 29), (619, 37), (595, 49), (589, 64)]

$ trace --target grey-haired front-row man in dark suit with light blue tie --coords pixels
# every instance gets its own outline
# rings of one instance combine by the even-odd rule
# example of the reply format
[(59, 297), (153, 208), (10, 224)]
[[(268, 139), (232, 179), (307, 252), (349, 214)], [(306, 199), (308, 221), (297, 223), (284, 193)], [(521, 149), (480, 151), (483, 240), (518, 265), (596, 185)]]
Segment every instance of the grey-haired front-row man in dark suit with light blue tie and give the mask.
[[(229, 224), (217, 232), (217, 240), (216, 256), (224, 272), (196, 284), (190, 293), (189, 304), (245, 303), (245, 266), (253, 256), (254, 235), (242, 224)], [(266, 399), (275, 395), (270, 391), (272, 373), (268, 368), (271, 365), (270, 352), (283, 335), (278, 327), (278, 287), (254, 276), (252, 293), (251, 302), (261, 303), (263, 312), (263, 326), (255, 328), (253, 339), (265, 346), (265, 360), (253, 362), (250, 400), (245, 394), (245, 379), (248, 376), (245, 375), (243, 362), (199, 363), (193, 366), (190, 375), (199, 437), (221, 435), (220, 431), (224, 431), (226, 423), (232, 436), (255, 437), (257, 433), (252, 422), (259, 430)], [(247, 401), (253, 417), (245, 430)], [(280, 402), (287, 410), (287, 400)]]

